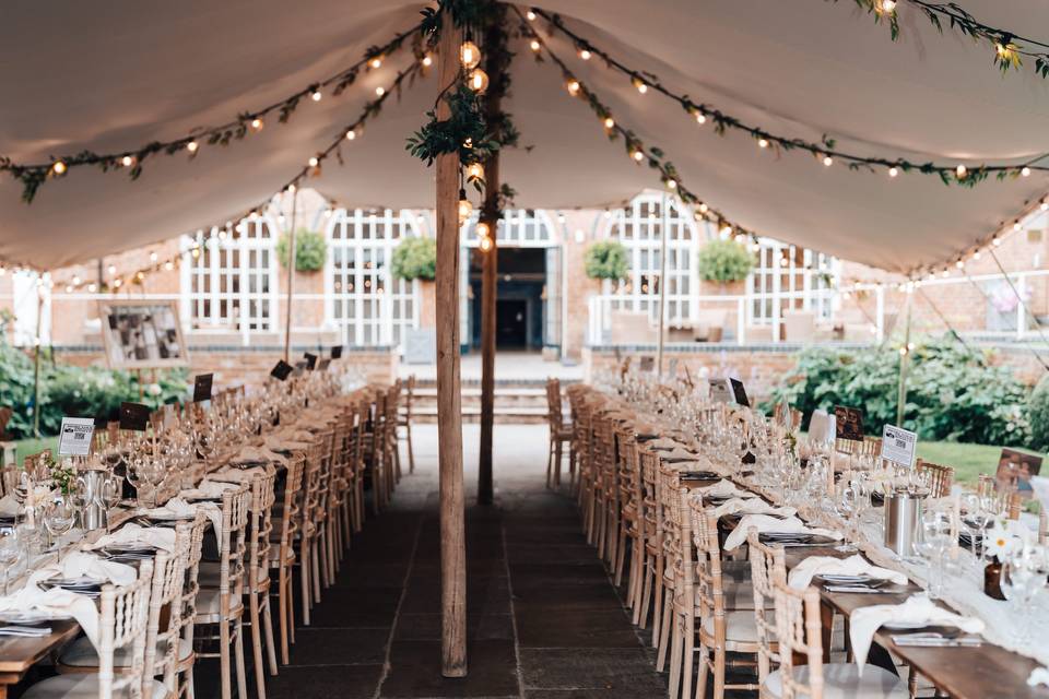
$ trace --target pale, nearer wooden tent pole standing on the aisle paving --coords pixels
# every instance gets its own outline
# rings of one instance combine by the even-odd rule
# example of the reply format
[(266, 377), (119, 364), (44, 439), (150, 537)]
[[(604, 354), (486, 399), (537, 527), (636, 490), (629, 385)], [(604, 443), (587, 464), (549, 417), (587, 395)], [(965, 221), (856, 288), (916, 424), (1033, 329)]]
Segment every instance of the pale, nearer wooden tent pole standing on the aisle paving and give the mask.
[[(461, 29), (446, 11), (437, 58), (440, 94), (459, 80)], [(450, 117), (441, 98), (437, 119)], [(441, 674), (467, 675), (467, 542), (459, 381), (459, 154), (437, 156), (437, 451), (440, 478)]]

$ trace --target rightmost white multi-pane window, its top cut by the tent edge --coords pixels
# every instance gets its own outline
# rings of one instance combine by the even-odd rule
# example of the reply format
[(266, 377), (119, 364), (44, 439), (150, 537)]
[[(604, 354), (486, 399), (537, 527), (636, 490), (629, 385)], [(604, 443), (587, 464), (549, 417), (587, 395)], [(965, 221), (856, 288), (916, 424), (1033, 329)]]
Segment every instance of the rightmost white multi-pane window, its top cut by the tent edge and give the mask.
[(830, 289), (838, 274), (838, 261), (822, 252), (762, 238), (754, 271), (746, 282), (752, 295), (751, 321), (771, 323), (787, 310), (812, 310), (829, 319)]

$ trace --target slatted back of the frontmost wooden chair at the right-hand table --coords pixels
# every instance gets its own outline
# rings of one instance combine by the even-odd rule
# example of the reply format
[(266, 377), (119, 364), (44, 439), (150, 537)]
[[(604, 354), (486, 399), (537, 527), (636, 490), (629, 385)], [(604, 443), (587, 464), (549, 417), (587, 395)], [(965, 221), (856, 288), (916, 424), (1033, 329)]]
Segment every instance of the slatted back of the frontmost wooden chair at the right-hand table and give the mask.
[[(823, 699), (823, 626), (820, 619), (820, 591), (794, 590), (786, 580), (774, 580), (776, 594), (776, 638), (779, 641), (781, 699), (802, 695)], [(794, 659), (805, 660), (804, 682), (794, 675)]]

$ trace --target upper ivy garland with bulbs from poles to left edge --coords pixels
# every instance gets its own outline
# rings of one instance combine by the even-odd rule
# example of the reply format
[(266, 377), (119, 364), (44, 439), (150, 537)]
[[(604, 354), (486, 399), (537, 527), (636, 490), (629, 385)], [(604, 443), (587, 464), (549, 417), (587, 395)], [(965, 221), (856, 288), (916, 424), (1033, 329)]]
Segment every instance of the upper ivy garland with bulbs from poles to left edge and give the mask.
[(49, 163), (20, 164), (10, 157), (0, 156), (0, 171), (10, 174), (21, 182), (22, 200), (26, 203), (33, 202), (37, 191), (48, 179), (62, 177), (74, 167), (96, 166), (104, 173), (126, 169), (132, 180), (138, 179), (142, 175), (143, 163), (151, 156), (187, 153), (192, 159), (202, 145), (226, 146), (234, 141), (243, 140), (249, 133), (261, 131), (266, 118), (273, 114), (278, 115), (280, 123), (286, 123), (300, 103), (318, 102), (323, 95), (322, 91), (327, 88), (331, 88), (331, 94), (334, 96), (341, 95), (356, 82), (362, 70), (367, 72), (379, 68), (382, 59), (400, 50), (409, 38), (414, 37), (413, 45), (416, 46), (415, 54), (419, 56), (419, 37), (424, 24), (425, 22), (420, 22), (414, 27), (397, 34), (386, 44), (369, 47), (353, 66), (320, 82), (313, 83), (261, 109), (240, 112), (236, 119), (217, 127), (195, 131), (172, 141), (153, 141), (120, 153), (95, 153), (84, 150), (74, 155), (51, 157)]

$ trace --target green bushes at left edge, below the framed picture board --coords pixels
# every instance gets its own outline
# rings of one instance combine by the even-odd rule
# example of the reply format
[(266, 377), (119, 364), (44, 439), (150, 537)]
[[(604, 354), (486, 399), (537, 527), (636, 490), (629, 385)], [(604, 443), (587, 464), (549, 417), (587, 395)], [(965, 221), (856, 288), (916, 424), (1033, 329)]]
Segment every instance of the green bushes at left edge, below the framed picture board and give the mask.
[[(139, 400), (135, 376), (99, 367), (55, 364), (40, 359), (40, 433), (56, 435), (63, 416), (113, 417), (123, 401), (142, 402), (151, 408), (186, 398), (185, 369), (165, 372), (156, 384), (143, 387)], [(21, 350), (0, 344), (0, 396), (14, 413), (7, 431), (15, 439), (33, 436), (33, 359)]]

